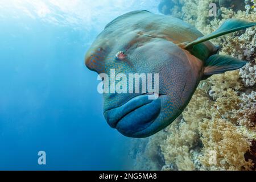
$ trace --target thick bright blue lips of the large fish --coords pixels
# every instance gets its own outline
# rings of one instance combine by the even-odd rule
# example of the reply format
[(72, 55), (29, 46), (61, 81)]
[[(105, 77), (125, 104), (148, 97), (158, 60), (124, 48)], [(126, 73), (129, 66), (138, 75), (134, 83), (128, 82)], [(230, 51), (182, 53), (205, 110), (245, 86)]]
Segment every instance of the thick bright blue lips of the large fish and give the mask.
[(149, 100), (148, 94), (131, 98), (122, 106), (106, 110), (104, 117), (108, 124), (127, 137), (134, 137), (158, 117), (160, 98)]

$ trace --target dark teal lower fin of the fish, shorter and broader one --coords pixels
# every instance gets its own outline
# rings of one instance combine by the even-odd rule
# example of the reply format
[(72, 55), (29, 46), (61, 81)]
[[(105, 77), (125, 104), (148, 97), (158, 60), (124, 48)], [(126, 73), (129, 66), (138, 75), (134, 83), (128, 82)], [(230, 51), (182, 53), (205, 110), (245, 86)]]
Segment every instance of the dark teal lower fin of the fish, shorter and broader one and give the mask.
[(208, 78), (214, 74), (224, 73), (242, 68), (247, 61), (242, 61), (231, 56), (226, 55), (212, 55), (205, 62), (204, 77)]

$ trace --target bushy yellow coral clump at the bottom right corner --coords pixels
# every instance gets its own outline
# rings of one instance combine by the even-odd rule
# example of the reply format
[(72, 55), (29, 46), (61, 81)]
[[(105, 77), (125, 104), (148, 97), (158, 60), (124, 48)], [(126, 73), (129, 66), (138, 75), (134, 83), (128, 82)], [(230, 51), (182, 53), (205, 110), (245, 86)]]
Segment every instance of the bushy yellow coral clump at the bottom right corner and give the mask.
[[(241, 170), (250, 169), (253, 164), (246, 162), (244, 154), (249, 150), (250, 143), (237, 130), (237, 127), (225, 119), (205, 119), (199, 125), (204, 144), (200, 162), (207, 169)], [(216, 163), (209, 162), (210, 151), (216, 152)]]

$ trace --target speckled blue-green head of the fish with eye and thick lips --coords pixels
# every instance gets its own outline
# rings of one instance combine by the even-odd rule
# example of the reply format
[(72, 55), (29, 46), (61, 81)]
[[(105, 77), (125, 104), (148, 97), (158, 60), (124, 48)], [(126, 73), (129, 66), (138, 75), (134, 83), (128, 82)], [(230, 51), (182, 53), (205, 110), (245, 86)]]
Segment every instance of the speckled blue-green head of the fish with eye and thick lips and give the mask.
[[(127, 137), (144, 138), (164, 129), (181, 114), (195, 90), (196, 78), (191, 75), (188, 54), (176, 44), (129, 28), (121, 32), (102, 32), (86, 54), (85, 64), (108, 88), (103, 96), (109, 125)], [(130, 78), (136, 74), (142, 76), (139, 81)], [(142, 81), (143, 75), (146, 81)], [(152, 92), (148, 82), (151, 88), (158, 88)], [(137, 85), (139, 92), (135, 92)], [(122, 89), (117, 92), (117, 88)]]

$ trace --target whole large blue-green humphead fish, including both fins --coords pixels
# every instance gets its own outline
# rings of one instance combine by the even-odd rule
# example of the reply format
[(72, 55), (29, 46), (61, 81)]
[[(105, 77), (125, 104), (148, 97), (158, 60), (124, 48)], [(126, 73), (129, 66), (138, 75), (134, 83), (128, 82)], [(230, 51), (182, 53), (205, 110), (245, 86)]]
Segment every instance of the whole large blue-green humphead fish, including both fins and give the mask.
[(246, 61), (217, 55), (209, 42), (255, 23), (228, 19), (204, 36), (180, 19), (133, 11), (110, 22), (85, 57), (92, 71), (110, 75), (159, 73), (159, 97), (142, 93), (105, 93), (104, 116), (127, 137), (148, 137), (170, 125), (188, 105), (200, 80), (243, 67)]

